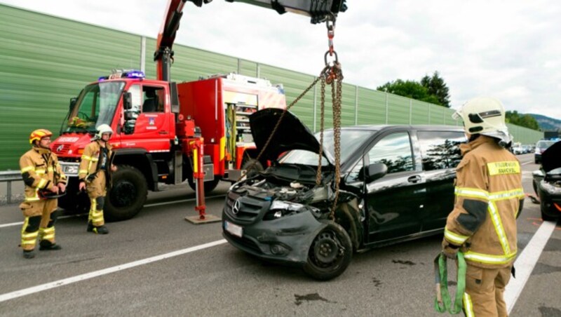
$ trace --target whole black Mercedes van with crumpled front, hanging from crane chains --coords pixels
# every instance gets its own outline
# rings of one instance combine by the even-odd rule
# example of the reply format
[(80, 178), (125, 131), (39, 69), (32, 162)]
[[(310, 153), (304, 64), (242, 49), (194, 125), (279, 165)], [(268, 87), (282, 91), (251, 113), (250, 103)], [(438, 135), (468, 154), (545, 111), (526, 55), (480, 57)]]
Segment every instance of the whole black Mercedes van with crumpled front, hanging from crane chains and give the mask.
[[(271, 108), (250, 116), (259, 151), (281, 114)], [(231, 245), (328, 280), (343, 273), (353, 251), (442, 234), (454, 207), (459, 144), (466, 142), (462, 128), (341, 128), (333, 219), (333, 131), (324, 133), (321, 160), (318, 138), (293, 114), (285, 114), (263, 154), (271, 166), (227, 193), (222, 234)]]

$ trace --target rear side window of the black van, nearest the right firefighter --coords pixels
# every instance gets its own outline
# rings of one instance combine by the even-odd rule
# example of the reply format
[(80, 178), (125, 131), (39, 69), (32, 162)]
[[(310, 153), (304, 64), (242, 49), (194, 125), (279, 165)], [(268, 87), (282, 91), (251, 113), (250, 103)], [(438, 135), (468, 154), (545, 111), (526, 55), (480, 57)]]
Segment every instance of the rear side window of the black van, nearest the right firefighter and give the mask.
[(423, 170), (455, 168), (461, 161), (459, 145), (465, 143), (466, 135), (458, 131), (417, 132), (423, 158)]

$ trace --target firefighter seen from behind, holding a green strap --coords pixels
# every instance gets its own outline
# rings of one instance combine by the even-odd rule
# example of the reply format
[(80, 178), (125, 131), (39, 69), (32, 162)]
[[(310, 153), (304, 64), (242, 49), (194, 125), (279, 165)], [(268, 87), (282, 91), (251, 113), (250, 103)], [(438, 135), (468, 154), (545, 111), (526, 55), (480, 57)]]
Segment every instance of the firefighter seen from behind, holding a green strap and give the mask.
[(503, 292), (514, 274), (516, 218), (524, 199), (520, 162), (506, 149), (512, 137), (499, 100), (474, 98), (452, 117), (464, 121), (468, 143), (461, 146), (442, 252), (450, 258), (464, 253), (466, 316), (507, 316)]

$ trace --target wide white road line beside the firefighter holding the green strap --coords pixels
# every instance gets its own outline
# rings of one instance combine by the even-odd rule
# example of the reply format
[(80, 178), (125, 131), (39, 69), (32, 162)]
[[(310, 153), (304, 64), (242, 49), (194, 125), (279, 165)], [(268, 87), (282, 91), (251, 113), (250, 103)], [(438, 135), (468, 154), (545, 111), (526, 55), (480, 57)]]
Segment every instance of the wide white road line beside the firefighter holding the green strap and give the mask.
[(532, 236), (532, 240), (530, 240), (528, 245), (526, 245), (524, 250), (522, 250), (522, 253), (518, 255), (518, 258), (514, 262), (514, 267), (516, 268), (516, 278), (511, 278), (511, 281), (509, 281), (508, 285), (506, 285), (506, 290), (504, 292), (504, 300), (509, 314), (514, 307), (514, 304), (516, 304), (516, 300), (522, 293), (522, 289), (524, 288), (524, 285), (526, 285), (530, 274), (532, 274), (543, 248), (546, 247), (546, 243), (553, 233), (555, 225), (556, 222), (544, 221), (538, 231), (536, 231), (534, 236)]

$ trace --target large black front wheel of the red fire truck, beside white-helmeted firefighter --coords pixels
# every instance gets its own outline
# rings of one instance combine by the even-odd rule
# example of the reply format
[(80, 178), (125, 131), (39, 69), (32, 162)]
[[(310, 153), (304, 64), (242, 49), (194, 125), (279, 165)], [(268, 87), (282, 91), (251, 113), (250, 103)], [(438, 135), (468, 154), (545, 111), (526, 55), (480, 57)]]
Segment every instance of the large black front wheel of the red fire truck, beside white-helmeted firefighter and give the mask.
[(128, 220), (142, 209), (148, 194), (144, 175), (133, 166), (119, 166), (107, 193), (103, 215), (109, 222)]

